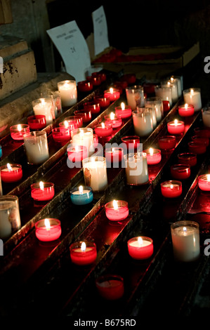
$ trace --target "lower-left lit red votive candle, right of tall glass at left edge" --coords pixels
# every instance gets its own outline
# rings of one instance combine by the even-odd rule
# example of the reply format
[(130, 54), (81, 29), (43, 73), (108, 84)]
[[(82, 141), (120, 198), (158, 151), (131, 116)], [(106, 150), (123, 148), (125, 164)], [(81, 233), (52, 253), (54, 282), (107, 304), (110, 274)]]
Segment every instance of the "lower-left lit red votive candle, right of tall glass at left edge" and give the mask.
[(60, 220), (49, 218), (41, 219), (35, 223), (35, 234), (41, 242), (51, 242), (61, 235)]

